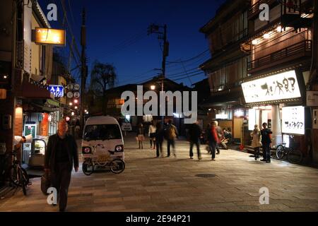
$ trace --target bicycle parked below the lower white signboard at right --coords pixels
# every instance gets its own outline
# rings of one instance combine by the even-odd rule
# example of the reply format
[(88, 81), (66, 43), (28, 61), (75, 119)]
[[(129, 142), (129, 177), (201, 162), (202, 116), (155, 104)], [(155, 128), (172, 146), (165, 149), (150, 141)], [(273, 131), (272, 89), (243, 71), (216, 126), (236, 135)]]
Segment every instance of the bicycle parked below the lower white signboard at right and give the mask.
[(276, 157), (281, 160), (285, 156), (290, 163), (298, 164), (302, 162), (302, 152), (295, 147), (295, 144), (291, 145), (290, 148), (286, 148), (286, 143), (277, 146)]

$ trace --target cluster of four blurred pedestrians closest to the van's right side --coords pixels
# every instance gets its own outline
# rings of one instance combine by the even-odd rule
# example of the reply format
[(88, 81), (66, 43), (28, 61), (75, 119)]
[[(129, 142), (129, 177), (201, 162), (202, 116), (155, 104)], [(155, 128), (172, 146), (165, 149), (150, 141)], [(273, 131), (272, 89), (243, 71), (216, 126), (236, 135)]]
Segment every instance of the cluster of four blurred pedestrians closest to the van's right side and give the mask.
[[(139, 124), (136, 133), (136, 139), (139, 143), (139, 149), (143, 149), (143, 141), (145, 141), (145, 129), (143, 124)], [(149, 126), (148, 136), (150, 140), (151, 148), (156, 149), (156, 156), (163, 157), (163, 141), (167, 141), (167, 157), (170, 157), (171, 147), (172, 153), (176, 157), (175, 151), (175, 138), (178, 136), (177, 127), (172, 124), (172, 120), (169, 120), (167, 124), (162, 125), (160, 121), (156, 124), (152, 121)]]

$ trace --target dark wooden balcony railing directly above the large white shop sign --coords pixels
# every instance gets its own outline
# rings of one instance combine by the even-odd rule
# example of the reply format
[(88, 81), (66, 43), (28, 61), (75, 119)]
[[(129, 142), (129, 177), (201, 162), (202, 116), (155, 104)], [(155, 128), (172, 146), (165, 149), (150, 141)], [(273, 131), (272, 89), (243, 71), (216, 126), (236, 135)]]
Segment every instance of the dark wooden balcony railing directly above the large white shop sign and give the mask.
[(279, 64), (283, 64), (295, 59), (301, 59), (303, 57), (310, 57), (312, 55), (312, 41), (303, 40), (296, 44), (280, 49), (276, 52), (272, 52), (259, 59), (254, 59), (247, 63), (247, 71), (254, 73), (264, 69), (269, 69)]

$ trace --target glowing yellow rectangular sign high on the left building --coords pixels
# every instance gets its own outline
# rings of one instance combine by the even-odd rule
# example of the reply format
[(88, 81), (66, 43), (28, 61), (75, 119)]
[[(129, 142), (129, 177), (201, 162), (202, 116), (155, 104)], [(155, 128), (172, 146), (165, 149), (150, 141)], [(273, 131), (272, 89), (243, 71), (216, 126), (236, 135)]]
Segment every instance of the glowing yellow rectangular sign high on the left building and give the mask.
[(35, 43), (65, 45), (65, 30), (35, 28)]

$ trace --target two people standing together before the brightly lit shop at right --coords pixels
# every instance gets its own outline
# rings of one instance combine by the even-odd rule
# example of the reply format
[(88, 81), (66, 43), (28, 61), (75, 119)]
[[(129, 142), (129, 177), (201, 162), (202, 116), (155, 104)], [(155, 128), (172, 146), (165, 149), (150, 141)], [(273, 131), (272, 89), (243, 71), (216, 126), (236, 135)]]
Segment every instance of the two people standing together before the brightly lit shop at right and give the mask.
[(259, 150), (263, 150), (262, 162), (271, 162), (271, 130), (267, 127), (266, 122), (262, 124), (263, 129), (259, 129), (259, 125), (254, 126), (254, 130), (251, 133), (252, 147), (254, 148), (255, 160), (259, 159)]

